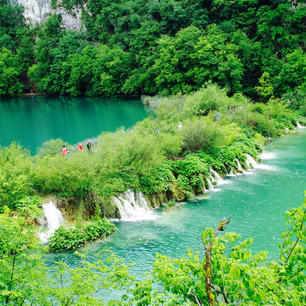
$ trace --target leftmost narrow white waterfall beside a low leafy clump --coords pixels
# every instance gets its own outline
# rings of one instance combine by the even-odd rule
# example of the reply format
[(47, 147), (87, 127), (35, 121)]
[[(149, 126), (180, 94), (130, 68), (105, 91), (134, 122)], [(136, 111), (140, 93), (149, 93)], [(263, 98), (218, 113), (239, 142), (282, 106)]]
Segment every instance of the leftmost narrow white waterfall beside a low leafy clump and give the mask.
[(47, 231), (41, 232), (39, 234), (39, 238), (43, 243), (47, 243), (48, 239), (63, 223), (64, 218), (61, 211), (58, 208), (56, 208), (55, 204), (52, 201), (43, 204), (43, 211), (47, 219)]

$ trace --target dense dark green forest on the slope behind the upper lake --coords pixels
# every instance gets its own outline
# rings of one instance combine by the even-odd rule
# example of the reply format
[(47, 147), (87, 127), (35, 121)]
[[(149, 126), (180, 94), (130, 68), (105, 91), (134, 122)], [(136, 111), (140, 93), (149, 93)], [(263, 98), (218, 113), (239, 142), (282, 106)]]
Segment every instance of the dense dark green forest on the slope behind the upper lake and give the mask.
[[(304, 1), (53, 1), (78, 8), (83, 26), (61, 15), (25, 22), (0, 8), (0, 95), (187, 94), (207, 82), (256, 101), (305, 99)], [(264, 90), (257, 90), (264, 84)]]

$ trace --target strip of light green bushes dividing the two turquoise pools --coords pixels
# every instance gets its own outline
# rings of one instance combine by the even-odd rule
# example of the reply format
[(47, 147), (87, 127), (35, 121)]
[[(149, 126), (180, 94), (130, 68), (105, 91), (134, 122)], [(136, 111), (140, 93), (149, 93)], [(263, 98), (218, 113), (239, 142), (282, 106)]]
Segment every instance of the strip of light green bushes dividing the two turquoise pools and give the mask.
[[(258, 160), (267, 139), (296, 125), (297, 114), (280, 101), (254, 104), (209, 85), (163, 99), (155, 116), (129, 130), (101, 134), (90, 152), (63, 157), (54, 141), (35, 157), (16, 145), (2, 149), (9, 158), (4, 163), (9, 188), (1, 205), (16, 209), (35, 192), (54, 194), (64, 215), (89, 220), (120, 218), (120, 205), (136, 209), (144, 205), (141, 198), (152, 208), (183, 201), (204, 193), (217, 175), (247, 169), (248, 155)], [(12, 164), (17, 176), (10, 175)], [(18, 192), (14, 180), (20, 180)], [(128, 190), (141, 196), (131, 202)]]

